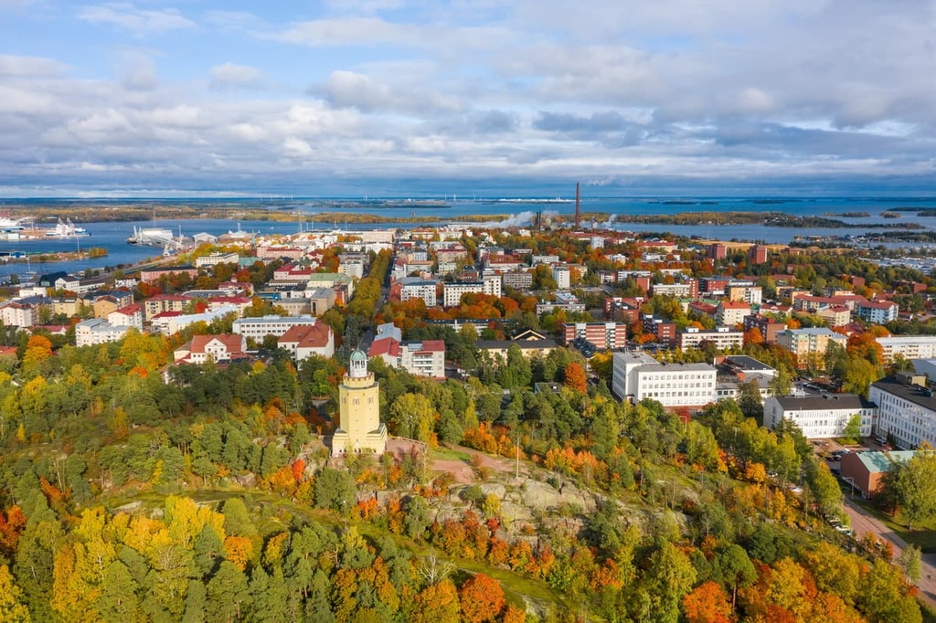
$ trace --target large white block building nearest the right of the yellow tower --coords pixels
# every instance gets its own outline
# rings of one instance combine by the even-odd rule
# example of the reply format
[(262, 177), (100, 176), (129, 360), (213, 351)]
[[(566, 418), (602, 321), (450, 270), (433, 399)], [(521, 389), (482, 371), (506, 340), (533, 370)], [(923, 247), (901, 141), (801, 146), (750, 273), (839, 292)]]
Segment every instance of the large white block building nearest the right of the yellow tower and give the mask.
[(709, 364), (661, 364), (644, 353), (615, 353), (611, 388), (622, 400), (658, 400), (666, 407), (715, 400), (716, 369)]

